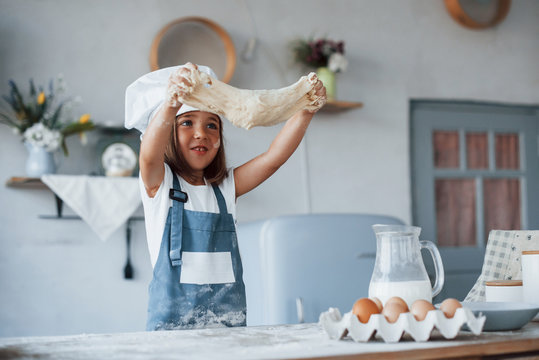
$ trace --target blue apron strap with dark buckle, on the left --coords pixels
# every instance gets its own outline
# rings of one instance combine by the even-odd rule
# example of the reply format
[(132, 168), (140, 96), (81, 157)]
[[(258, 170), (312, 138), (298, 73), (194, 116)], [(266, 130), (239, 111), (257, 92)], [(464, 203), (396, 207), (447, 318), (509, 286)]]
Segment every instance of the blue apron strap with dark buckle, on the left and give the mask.
[(187, 201), (187, 194), (182, 191), (178, 176), (172, 173), (172, 178), (172, 189), (169, 192), (169, 197), (173, 200), (169, 256), (172, 266), (179, 266), (182, 264), (183, 205)]

